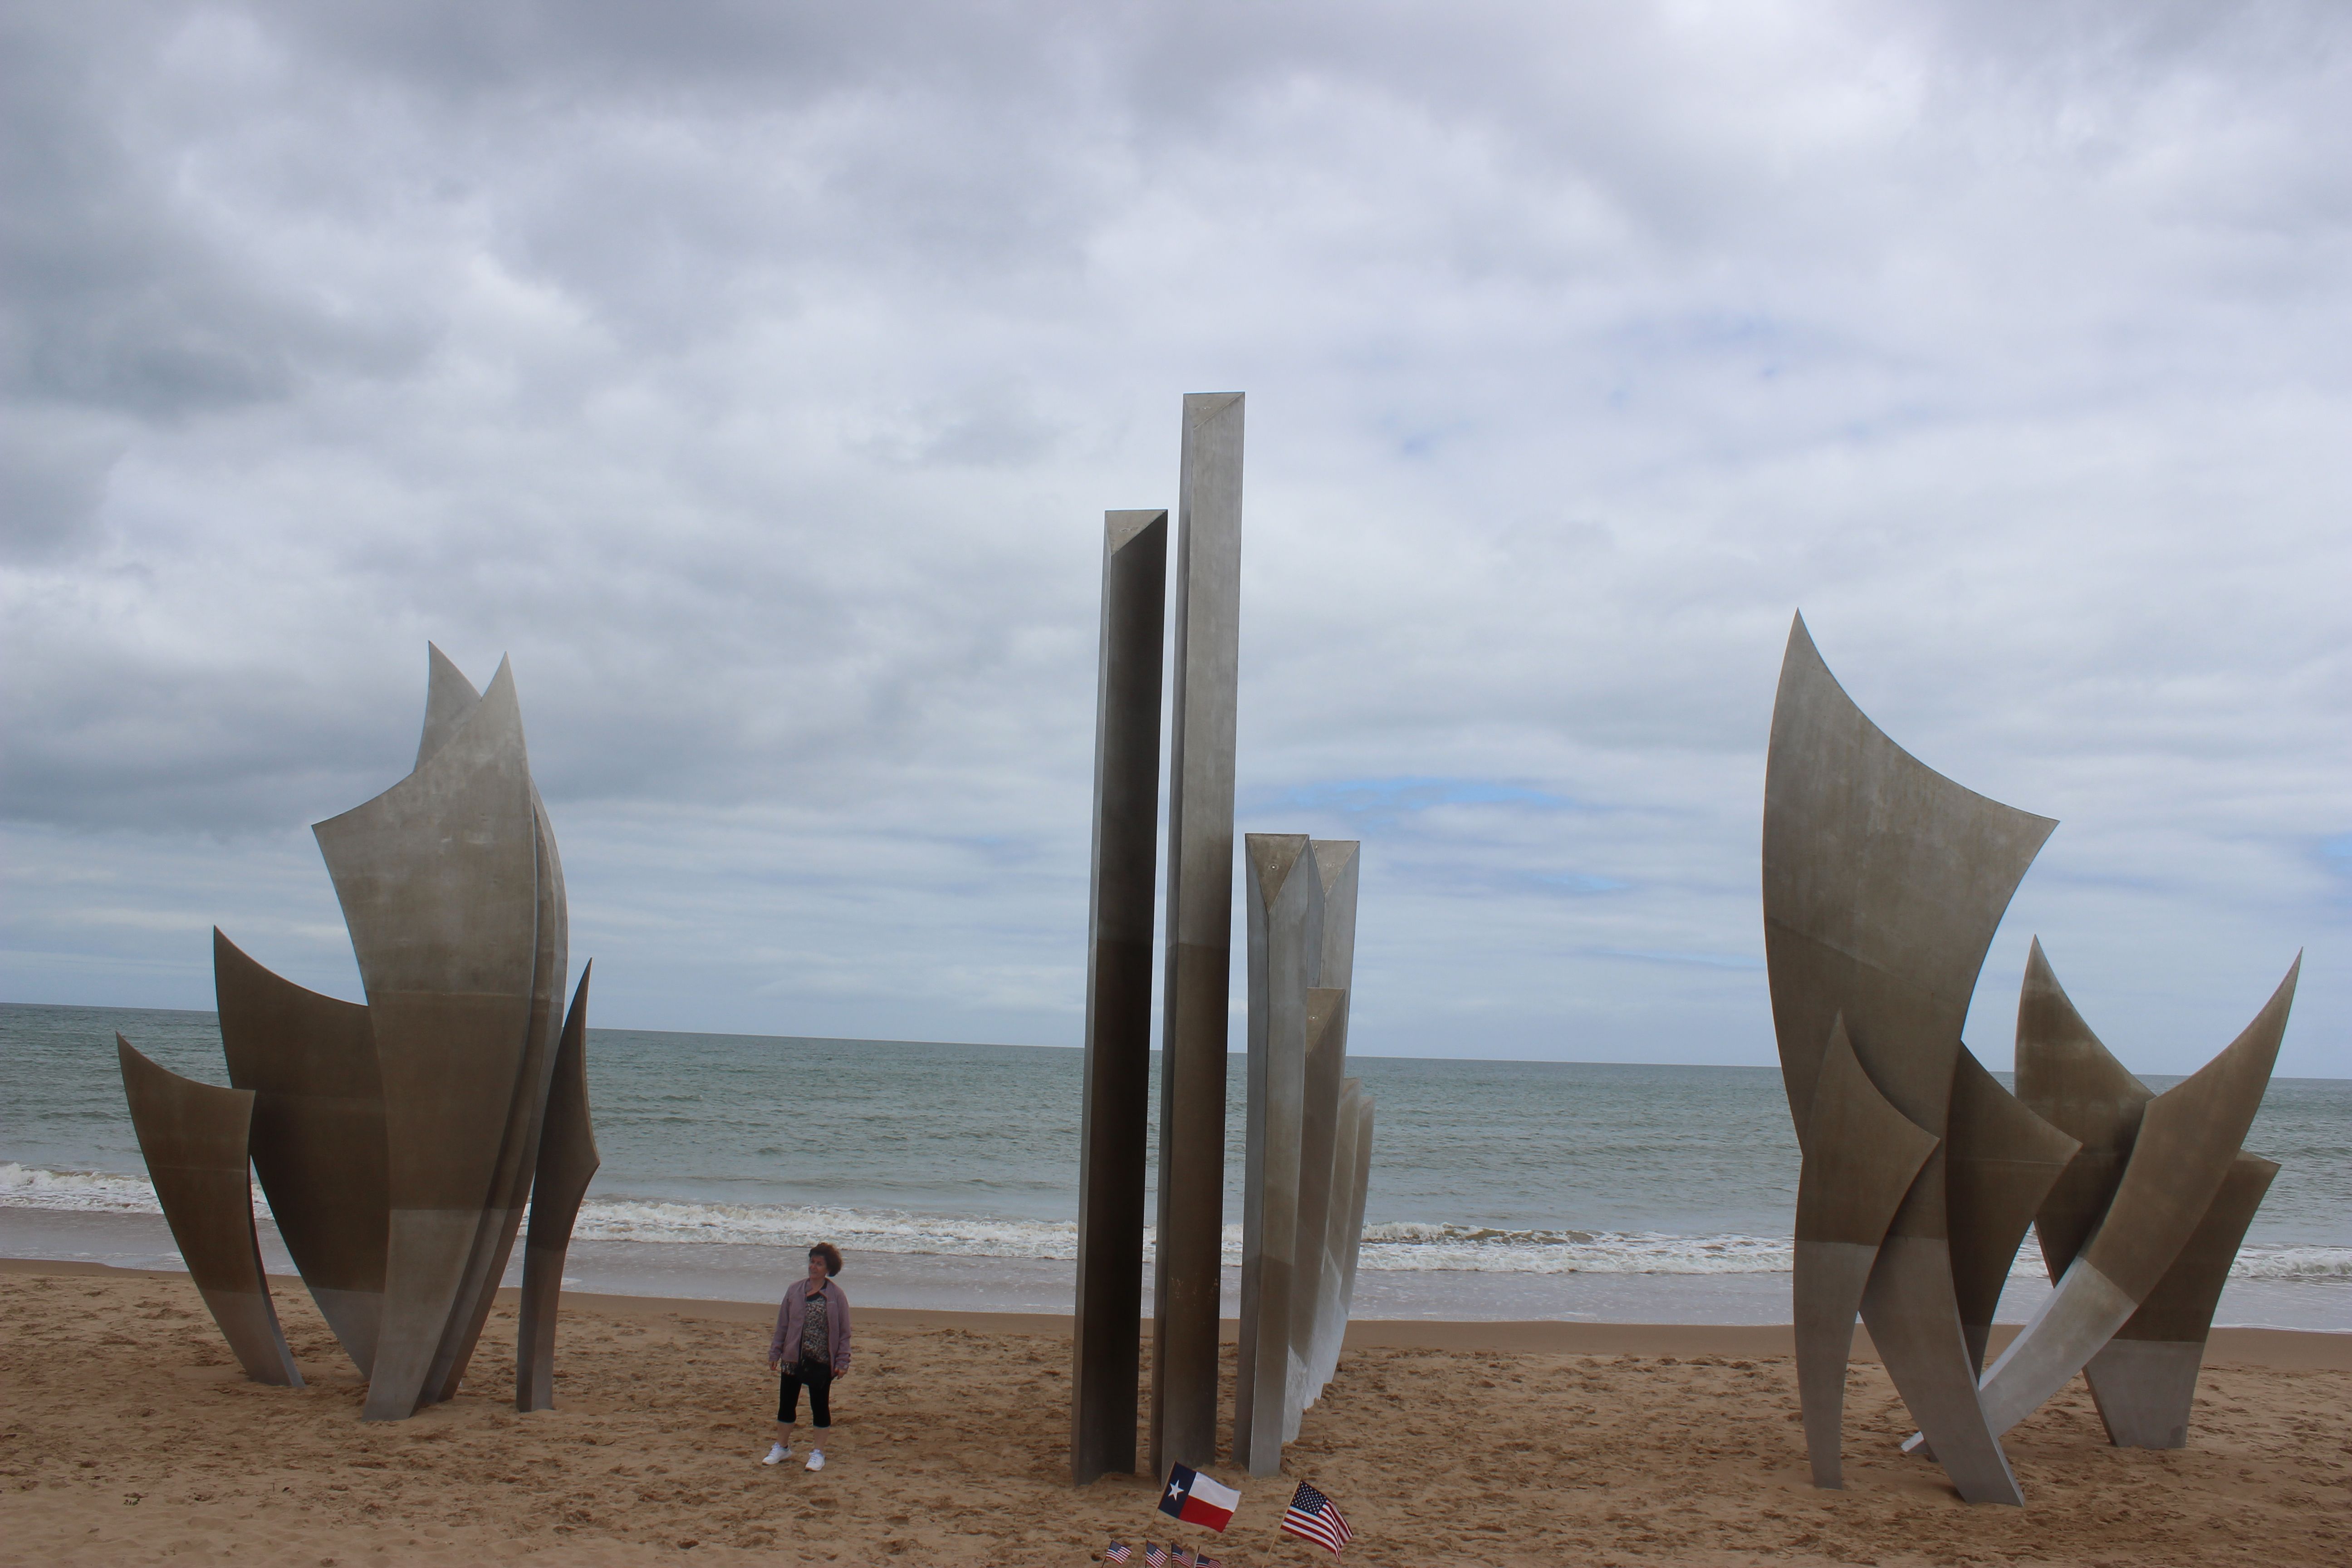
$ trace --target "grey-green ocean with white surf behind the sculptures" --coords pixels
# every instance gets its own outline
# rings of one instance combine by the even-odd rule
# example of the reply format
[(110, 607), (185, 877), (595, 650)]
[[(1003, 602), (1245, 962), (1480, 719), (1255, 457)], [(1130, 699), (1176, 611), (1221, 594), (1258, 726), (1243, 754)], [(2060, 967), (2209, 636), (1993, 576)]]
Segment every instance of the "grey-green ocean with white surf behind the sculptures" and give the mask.
[[(118, 1030), (226, 1081), (212, 1013), (0, 1004), (0, 1255), (176, 1265)], [(1797, 1143), (1776, 1070), (1350, 1072), (1378, 1103), (1357, 1316), (1788, 1321)], [(870, 1305), (1070, 1309), (1080, 1051), (590, 1030), (588, 1079), (604, 1164), (574, 1288), (764, 1300), (830, 1239)], [(1230, 1293), (1242, 1058), (1228, 1095)], [(2274, 1079), (2246, 1147), (2284, 1168), (2216, 1321), (2352, 1331), (2352, 1081)], [(2027, 1241), (2002, 1319), (2046, 1288)]]

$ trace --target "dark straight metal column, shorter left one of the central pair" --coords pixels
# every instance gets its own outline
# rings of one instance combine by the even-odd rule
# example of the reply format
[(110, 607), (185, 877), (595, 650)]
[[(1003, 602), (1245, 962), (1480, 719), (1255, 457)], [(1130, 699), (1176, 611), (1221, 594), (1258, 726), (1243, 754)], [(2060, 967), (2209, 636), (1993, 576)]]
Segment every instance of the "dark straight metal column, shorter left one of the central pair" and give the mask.
[(1087, 1103), (1077, 1145), (1077, 1333), (1070, 1345), (1075, 1486), (1136, 1469), (1167, 578), (1167, 510), (1103, 512), (1094, 896), (1087, 917)]

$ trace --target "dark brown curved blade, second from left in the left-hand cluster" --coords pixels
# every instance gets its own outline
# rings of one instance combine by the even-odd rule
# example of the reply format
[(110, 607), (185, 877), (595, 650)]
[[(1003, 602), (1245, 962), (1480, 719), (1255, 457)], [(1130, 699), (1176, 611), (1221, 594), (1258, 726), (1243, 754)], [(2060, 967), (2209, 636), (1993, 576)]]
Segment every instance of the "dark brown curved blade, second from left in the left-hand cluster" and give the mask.
[(367, 1009), (285, 980), (212, 931), (228, 1081), (254, 1091), (252, 1154), (310, 1300), (360, 1375), (376, 1359), (390, 1225), (383, 1081)]

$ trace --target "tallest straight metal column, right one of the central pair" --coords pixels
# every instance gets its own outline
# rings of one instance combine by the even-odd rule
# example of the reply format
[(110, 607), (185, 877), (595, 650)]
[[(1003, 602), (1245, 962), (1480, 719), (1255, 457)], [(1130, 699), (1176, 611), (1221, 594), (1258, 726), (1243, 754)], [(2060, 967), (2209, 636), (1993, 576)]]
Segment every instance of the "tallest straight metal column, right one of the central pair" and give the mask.
[(1242, 393), (1188, 393), (1176, 496), (1160, 1267), (1152, 1274), (1155, 1474), (1167, 1474), (1174, 1462), (1200, 1467), (1216, 1460), (1240, 611)]

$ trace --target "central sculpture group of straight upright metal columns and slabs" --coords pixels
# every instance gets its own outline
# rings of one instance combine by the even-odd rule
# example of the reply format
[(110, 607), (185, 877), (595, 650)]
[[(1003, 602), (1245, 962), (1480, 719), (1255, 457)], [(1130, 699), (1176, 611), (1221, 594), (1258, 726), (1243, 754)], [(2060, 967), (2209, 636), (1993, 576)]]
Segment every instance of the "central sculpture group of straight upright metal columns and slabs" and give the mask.
[[(1150, 1465), (1216, 1460), (1232, 978), (1232, 750), (1242, 393), (1183, 400), (1176, 696), (1152, 1269)], [(1167, 512), (1108, 512), (1096, 675), (1087, 1088), (1080, 1128), (1070, 1479), (1134, 1469), (1150, 1056), (1152, 813)], [(1355, 844), (1251, 839), (1249, 1157), (1235, 1450), (1277, 1465), (1329, 1380), (1355, 1288), (1371, 1107), (1343, 1079)], [(1279, 910), (1272, 910), (1275, 900)], [(1272, 919), (1279, 931), (1265, 926)], [(1265, 983), (1265, 966), (1279, 983)]]

